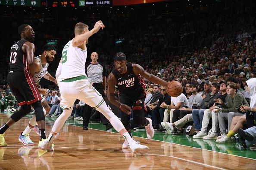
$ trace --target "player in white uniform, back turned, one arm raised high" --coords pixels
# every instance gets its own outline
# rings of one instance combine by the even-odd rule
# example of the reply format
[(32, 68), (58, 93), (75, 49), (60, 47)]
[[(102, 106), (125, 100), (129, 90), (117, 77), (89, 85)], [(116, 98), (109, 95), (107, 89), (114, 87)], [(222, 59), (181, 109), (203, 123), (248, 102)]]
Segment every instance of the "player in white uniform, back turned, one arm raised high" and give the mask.
[(132, 152), (145, 154), (148, 151), (149, 148), (147, 146), (138, 144), (130, 137), (119, 118), (109, 110), (103, 97), (86, 78), (84, 65), (87, 58), (87, 40), (94, 33), (97, 33), (100, 28), (103, 29), (104, 27), (102, 21), (98, 21), (94, 28), (89, 31), (86, 24), (79, 22), (75, 25), (75, 38), (64, 46), (62, 59), (56, 71), (59, 91), (62, 94), (60, 106), (63, 112), (53, 124), (47, 140), (40, 145), (41, 149), (53, 150), (53, 136), (60, 131), (67, 118), (71, 115), (75, 100), (79, 99), (101, 112), (116, 131), (128, 141)]

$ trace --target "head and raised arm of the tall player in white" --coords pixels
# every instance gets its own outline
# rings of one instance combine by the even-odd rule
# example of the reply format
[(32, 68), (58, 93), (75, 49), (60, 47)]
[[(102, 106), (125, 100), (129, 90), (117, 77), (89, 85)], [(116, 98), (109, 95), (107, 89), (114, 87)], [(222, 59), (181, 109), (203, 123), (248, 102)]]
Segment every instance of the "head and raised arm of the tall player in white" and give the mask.
[(81, 46), (84, 42), (87, 42), (87, 39), (92, 36), (94, 33), (97, 33), (100, 28), (103, 29), (105, 26), (102, 23), (102, 21), (97, 21), (94, 25), (94, 28), (92, 30), (88, 30), (87, 28), (84, 30), (83, 26), (79, 26), (80, 23), (76, 24), (75, 26), (75, 38), (72, 41), (72, 46), (77, 47)]

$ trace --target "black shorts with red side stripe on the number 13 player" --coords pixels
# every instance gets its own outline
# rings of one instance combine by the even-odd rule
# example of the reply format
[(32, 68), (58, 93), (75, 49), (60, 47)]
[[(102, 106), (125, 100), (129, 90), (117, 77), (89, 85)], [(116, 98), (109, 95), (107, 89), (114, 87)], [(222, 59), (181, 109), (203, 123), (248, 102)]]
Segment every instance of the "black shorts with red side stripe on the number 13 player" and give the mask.
[(40, 93), (34, 84), (31, 74), (21, 71), (10, 71), (7, 76), (7, 82), (19, 106), (41, 100)]

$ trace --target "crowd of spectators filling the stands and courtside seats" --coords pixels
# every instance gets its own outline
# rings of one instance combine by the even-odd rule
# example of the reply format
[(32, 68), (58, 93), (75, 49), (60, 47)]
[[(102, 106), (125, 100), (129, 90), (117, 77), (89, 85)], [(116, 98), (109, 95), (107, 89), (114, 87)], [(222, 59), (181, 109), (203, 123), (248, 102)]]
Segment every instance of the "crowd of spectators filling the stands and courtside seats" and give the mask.
[[(182, 134), (182, 127), (192, 122), (194, 131), (190, 131), (190, 135), (194, 135), (194, 138), (229, 143), (234, 141), (234, 134), (246, 122), (247, 127), (255, 126), (255, 121), (252, 120), (255, 120), (256, 114), (252, 112), (253, 117), (250, 112), (256, 107), (252, 100), (255, 94), (250, 93), (255, 87), (250, 82), (255, 81), (256, 74), (256, 19), (253, 16), (256, 16), (255, 9), (244, 3), (235, 9), (206, 8), (197, 12), (177, 12), (172, 17), (147, 16), (147, 20), (132, 13), (108, 13), (101, 16), (106, 28), (89, 39), (88, 54), (97, 51), (99, 61), (106, 63), (110, 73), (114, 54), (122, 51), (128, 56), (129, 62), (140, 64), (148, 73), (165, 81), (181, 82), (184, 88), (181, 96), (170, 97), (166, 93), (166, 87), (144, 79), (147, 83), (145, 116), (153, 119), (156, 131)], [(13, 21), (6, 21), (7, 24), (2, 27), (14, 34), (21, 19), (18, 17)], [(90, 19), (90, 23), (94, 23), (99, 18), (94, 16)], [(70, 21), (68, 25), (62, 20), (58, 24), (52, 24), (52, 20), (40, 21), (32, 17), (23, 18), (23, 21), (34, 28), (37, 54), (40, 54), (40, 46), (46, 43), (48, 36), (58, 39), (56, 60), (48, 70), (54, 75), (62, 48), (72, 38), (72, 29), (77, 21)], [(115, 45), (115, 40), (120, 38), (125, 40)], [(15, 111), (18, 108), (15, 97), (8, 91), (4, 80), (9, 65), (9, 57), (6, 57), (9, 55), (9, 48), (6, 47), (10, 47), (19, 37), (6, 33), (1, 34), (1, 39), (6, 40), (0, 43), (0, 63), (3, 66), (0, 68), (3, 84), (1, 111)], [(59, 106), (61, 94), (53, 84), (44, 86), (53, 87), (47, 89), (45, 100), (51, 106), (48, 116), (56, 118), (62, 112)], [(82, 106), (82, 101), (74, 103), (71, 119), (82, 121)], [(209, 121), (210, 118), (212, 121)], [(135, 125), (133, 127), (143, 128)], [(212, 130), (209, 132), (209, 129)]]

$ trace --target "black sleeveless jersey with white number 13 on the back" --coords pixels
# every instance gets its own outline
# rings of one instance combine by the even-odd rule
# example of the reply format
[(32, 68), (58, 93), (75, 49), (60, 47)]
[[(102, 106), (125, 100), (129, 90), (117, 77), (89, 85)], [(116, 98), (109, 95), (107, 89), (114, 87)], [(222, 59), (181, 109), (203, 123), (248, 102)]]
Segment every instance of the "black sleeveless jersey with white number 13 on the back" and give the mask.
[(22, 46), (27, 40), (22, 39), (14, 43), (10, 50), (10, 68), (8, 71), (22, 71), (29, 73), (27, 68), (27, 54), (23, 52)]

